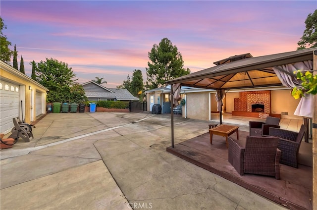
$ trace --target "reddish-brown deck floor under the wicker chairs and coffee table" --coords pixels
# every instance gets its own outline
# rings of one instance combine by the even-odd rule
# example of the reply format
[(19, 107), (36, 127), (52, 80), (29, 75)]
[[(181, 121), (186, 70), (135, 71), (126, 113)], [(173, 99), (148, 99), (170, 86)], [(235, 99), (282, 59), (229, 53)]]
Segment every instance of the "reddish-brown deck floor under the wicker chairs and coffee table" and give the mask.
[[(239, 140), (245, 140), (248, 134), (248, 132), (239, 131)], [(179, 143), (174, 148), (168, 147), (166, 151), (289, 209), (313, 209), (312, 167), (300, 164), (299, 168), (293, 168), (281, 164), (280, 180), (254, 174), (241, 176), (228, 162), (225, 138), (214, 135), (211, 145), (209, 133)]]

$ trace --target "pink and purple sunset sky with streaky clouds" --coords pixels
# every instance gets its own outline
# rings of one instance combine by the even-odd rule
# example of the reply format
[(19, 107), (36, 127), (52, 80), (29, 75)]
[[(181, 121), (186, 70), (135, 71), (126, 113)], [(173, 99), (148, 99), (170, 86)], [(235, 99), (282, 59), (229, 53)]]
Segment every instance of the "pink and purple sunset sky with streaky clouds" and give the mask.
[[(54, 58), (71, 67), (77, 82), (104, 78), (115, 88), (143, 72), (148, 52), (168, 38), (184, 68), (196, 72), (213, 62), (250, 52), (261, 56), (296, 51), (312, 1), (121, 1), (1, 0), (3, 34), (16, 45), (26, 74), (32, 60)], [(12, 58), (11, 58), (12, 63)]]

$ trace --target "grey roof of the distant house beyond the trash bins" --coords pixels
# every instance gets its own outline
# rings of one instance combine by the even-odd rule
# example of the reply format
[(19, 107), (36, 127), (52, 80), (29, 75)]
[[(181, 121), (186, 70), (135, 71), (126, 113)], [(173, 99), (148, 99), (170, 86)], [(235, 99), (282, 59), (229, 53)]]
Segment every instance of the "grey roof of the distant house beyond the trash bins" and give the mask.
[[(96, 89), (96, 91), (93, 91), (91, 88), (85, 89), (85, 86), (89, 86), (90, 84), (97, 86), (98, 90)], [(83, 83), (82, 86), (87, 98), (113, 98), (119, 101), (139, 100), (139, 98), (134, 97), (127, 89), (106, 88), (94, 81)]]

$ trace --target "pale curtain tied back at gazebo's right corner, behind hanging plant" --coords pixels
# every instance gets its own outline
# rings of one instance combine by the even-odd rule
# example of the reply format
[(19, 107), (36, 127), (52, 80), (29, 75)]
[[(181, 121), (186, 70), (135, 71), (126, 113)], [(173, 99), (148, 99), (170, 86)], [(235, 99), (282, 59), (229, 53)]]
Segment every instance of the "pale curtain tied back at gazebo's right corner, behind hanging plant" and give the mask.
[[(294, 88), (302, 87), (302, 81), (296, 79), (294, 71), (311, 71), (313, 70), (313, 61), (307, 60), (303, 62), (297, 62), (294, 64), (286, 64), (272, 67), (276, 76), (285, 87)], [(307, 94), (301, 98), (295, 112), (295, 115), (303, 116), (307, 118), (313, 118), (313, 95)]]

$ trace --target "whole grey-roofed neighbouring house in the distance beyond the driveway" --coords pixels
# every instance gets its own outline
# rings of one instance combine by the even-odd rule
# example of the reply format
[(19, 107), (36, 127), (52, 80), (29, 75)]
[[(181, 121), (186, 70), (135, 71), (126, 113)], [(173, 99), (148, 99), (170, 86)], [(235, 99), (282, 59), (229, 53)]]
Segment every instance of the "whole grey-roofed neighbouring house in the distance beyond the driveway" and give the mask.
[(139, 100), (127, 89), (106, 88), (94, 81), (82, 84), (89, 101), (121, 101), (129, 102)]

